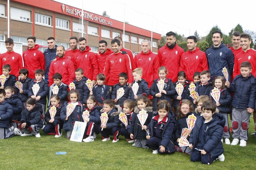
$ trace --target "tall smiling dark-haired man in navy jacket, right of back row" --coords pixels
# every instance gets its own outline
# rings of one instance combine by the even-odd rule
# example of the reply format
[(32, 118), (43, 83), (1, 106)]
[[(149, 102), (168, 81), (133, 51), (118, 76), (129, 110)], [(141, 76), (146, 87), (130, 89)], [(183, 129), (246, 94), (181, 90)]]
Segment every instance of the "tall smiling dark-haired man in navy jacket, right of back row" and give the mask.
[(226, 67), (230, 77), (233, 73), (234, 67), (234, 54), (228, 47), (221, 41), (223, 40), (222, 33), (220, 31), (212, 32), (213, 45), (206, 50), (206, 57), (208, 61), (209, 71), (211, 73), (211, 80), (216, 76), (223, 76), (222, 68)]

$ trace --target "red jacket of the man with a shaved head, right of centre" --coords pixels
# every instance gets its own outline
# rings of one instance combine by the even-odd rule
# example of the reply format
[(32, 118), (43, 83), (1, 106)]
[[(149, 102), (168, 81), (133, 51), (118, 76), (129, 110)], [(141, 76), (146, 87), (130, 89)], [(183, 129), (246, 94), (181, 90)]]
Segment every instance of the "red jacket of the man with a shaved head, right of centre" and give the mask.
[(134, 57), (133, 68), (142, 68), (142, 79), (148, 82), (148, 88), (150, 88), (153, 81), (158, 78), (159, 60), (157, 55), (151, 50), (147, 54), (141, 51)]

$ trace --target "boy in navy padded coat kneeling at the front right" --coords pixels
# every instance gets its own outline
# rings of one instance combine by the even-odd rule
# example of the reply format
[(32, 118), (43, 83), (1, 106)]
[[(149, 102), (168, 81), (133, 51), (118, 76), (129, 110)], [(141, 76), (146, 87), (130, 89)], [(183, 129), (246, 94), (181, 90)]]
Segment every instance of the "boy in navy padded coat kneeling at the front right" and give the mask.
[(208, 165), (217, 159), (224, 161), (221, 138), (225, 117), (215, 113), (216, 104), (212, 101), (204, 102), (201, 110), (202, 116), (197, 117), (189, 138), (189, 148), (192, 149), (190, 160)]

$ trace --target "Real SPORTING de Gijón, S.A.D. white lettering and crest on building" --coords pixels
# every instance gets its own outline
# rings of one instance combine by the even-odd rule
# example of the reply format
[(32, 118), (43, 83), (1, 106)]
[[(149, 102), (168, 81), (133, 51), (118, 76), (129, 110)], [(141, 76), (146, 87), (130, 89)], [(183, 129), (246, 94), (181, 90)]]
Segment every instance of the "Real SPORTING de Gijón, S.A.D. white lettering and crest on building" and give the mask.
[(84, 11), (82, 12), (82, 10), (79, 10), (79, 9), (74, 9), (74, 8), (71, 9), (68, 6), (65, 7), (64, 4), (62, 4), (62, 11), (75, 16), (80, 16), (80, 17), (82, 17), (83, 15), (84, 19), (94, 20), (94, 21), (100, 22), (101, 24), (112, 25), (112, 22), (104, 19), (104, 17), (101, 17), (101, 16), (97, 17), (97, 15), (94, 16), (89, 12), (84, 12)]

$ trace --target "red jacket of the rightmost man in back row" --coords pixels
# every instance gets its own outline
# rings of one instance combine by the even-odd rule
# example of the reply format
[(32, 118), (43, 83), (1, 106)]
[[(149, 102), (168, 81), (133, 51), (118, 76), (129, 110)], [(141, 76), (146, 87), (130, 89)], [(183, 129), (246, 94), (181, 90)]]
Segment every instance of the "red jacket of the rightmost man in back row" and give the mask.
[(249, 49), (246, 52), (243, 50), (238, 53), (234, 60), (234, 70), (233, 70), (233, 78), (239, 75), (240, 65), (244, 61), (249, 61), (252, 65), (252, 74), (256, 76), (256, 51), (254, 49)]

